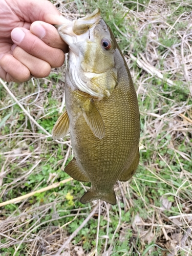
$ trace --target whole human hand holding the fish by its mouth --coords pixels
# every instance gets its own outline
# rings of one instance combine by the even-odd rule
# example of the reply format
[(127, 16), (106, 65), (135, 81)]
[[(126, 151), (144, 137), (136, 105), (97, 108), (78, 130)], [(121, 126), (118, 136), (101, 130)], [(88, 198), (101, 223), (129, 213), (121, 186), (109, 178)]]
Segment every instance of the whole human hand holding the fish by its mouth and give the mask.
[(0, 0), (0, 5), (0, 77), (24, 82), (63, 64), (68, 46), (51, 24), (68, 20), (51, 2)]

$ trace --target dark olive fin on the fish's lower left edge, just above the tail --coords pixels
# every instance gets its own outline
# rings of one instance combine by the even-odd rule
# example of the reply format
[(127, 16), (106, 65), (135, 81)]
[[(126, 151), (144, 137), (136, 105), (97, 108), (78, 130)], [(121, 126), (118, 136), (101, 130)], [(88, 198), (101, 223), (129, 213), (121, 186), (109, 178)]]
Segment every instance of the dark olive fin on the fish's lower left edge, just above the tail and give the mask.
[(89, 178), (84, 175), (77, 165), (76, 159), (73, 158), (71, 162), (68, 163), (68, 165), (65, 167), (65, 172), (69, 174), (73, 179), (78, 180), (78, 181), (84, 181), (84, 182), (89, 182)]

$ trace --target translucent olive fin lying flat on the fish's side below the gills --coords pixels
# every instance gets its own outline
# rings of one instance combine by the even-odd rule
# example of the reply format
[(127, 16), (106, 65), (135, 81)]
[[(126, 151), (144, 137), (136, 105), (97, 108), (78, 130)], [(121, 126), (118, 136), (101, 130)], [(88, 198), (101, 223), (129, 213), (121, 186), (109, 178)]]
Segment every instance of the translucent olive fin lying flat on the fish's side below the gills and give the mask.
[(94, 103), (90, 99), (87, 100), (83, 106), (81, 106), (81, 110), (92, 133), (97, 138), (102, 139), (104, 137), (104, 122)]

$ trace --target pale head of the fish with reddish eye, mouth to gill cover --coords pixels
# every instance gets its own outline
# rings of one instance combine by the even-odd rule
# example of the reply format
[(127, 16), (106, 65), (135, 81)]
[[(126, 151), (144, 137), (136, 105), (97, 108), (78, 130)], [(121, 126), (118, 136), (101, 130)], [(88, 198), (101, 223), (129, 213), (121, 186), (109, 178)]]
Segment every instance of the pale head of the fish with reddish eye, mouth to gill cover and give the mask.
[(117, 42), (96, 9), (92, 14), (57, 26), (69, 45), (72, 81), (80, 91), (108, 98), (117, 85)]

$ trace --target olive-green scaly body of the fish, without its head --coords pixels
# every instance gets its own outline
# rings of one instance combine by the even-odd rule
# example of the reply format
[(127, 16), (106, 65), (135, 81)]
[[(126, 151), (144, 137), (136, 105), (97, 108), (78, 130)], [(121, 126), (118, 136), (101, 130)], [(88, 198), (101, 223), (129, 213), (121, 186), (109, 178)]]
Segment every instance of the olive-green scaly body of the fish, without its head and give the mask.
[[(115, 63), (115, 68), (112, 64), (110, 78), (108, 74), (105, 77), (108, 81), (114, 77), (115, 86), (112, 89), (106, 85), (95, 93), (96, 96), (92, 96), (74, 85), (74, 74), (70, 68), (66, 72), (67, 112), (64, 119), (66, 126), (69, 125), (75, 157), (65, 171), (76, 180), (91, 182), (91, 189), (80, 199), (82, 203), (102, 199), (115, 204), (115, 183), (117, 180), (129, 180), (139, 163), (137, 96), (124, 57), (111, 36), (114, 41), (111, 63)], [(101, 98), (102, 93), (105, 96)], [(59, 121), (56, 127), (60, 127)]]

